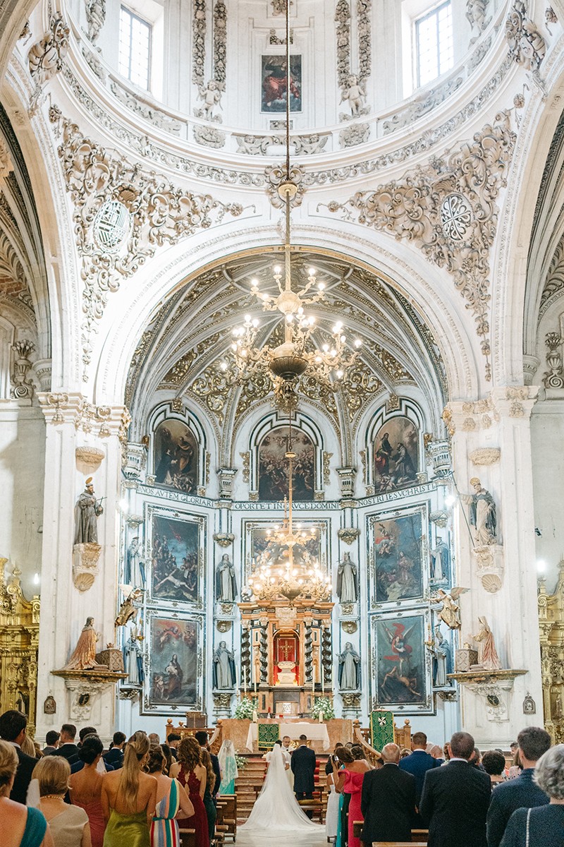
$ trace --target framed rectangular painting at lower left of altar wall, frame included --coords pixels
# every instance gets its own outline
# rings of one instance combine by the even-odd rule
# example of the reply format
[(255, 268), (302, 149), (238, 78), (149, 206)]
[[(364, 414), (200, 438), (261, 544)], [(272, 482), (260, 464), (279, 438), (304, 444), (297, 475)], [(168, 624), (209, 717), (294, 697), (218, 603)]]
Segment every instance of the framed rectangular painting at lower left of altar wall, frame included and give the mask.
[(145, 714), (201, 711), (203, 617), (148, 612)]

